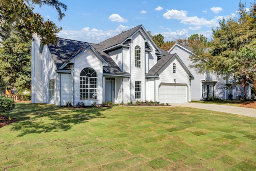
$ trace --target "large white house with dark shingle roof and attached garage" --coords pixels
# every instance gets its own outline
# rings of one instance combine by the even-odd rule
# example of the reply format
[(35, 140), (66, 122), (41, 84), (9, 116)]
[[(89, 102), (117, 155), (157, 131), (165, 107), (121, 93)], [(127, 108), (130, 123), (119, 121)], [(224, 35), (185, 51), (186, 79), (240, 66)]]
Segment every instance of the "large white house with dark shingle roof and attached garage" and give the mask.
[(99, 44), (59, 38), (32, 42), (32, 103), (189, 102), (188, 68), (156, 46), (140, 25)]

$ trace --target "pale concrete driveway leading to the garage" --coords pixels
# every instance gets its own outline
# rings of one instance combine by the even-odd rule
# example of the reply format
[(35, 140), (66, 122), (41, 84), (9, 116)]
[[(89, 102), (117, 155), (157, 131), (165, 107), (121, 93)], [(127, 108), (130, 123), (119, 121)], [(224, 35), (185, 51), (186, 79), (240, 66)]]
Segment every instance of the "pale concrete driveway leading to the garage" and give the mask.
[(236, 107), (236, 106), (229, 106), (229, 105), (214, 105), (214, 104), (202, 104), (202, 103), (172, 103), (170, 105), (181, 106), (181, 107), (193, 107), (198, 109), (206, 109), (206, 110), (212, 110), (212, 111), (232, 113), (236, 115), (256, 117), (256, 109), (252, 109), (248, 107)]

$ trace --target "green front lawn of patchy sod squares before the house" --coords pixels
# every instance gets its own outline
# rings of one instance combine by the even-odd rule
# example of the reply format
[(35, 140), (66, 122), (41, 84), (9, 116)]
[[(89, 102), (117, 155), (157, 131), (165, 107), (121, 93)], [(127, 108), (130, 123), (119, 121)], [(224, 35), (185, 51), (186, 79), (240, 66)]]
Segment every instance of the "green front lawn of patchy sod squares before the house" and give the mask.
[(16, 103), (0, 169), (256, 170), (256, 118), (188, 107)]

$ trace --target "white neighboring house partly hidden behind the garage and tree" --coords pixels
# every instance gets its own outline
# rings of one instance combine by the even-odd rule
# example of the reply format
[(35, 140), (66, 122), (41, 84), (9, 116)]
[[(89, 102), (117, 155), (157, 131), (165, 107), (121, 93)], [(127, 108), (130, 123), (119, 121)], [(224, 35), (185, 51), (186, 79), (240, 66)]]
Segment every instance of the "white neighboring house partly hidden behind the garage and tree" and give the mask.
[[(206, 49), (208, 50), (208, 49)], [(168, 51), (170, 54), (176, 53), (188, 70), (194, 76), (194, 80), (191, 80), (191, 99), (192, 100), (205, 100), (210, 97), (218, 97), (221, 99), (229, 99), (229, 96), (232, 99), (237, 98), (237, 92), (240, 89), (244, 89), (241, 85), (234, 85), (232, 90), (224, 89), (224, 84), (226, 84), (228, 79), (227, 77), (218, 76), (214, 73), (197, 74), (194, 68), (190, 68), (189, 65), (192, 62), (189, 59), (189, 56), (193, 55), (193, 48), (190, 46), (185, 46), (181, 44), (174, 44), (172, 48)], [(246, 87), (247, 96), (250, 98), (250, 88)]]

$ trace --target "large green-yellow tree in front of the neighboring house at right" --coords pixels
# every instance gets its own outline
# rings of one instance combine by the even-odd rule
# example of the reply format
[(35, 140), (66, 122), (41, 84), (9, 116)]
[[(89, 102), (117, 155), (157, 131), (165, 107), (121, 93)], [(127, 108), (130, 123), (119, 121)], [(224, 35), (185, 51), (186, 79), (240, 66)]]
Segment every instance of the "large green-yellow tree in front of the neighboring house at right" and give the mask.
[(256, 87), (256, 2), (250, 12), (246, 12), (240, 1), (238, 14), (240, 18), (223, 18), (220, 26), (212, 30), (209, 53), (200, 47), (194, 48), (196, 55), (190, 60), (198, 72), (210, 70), (232, 74), (240, 84), (246, 85), (250, 80)]

